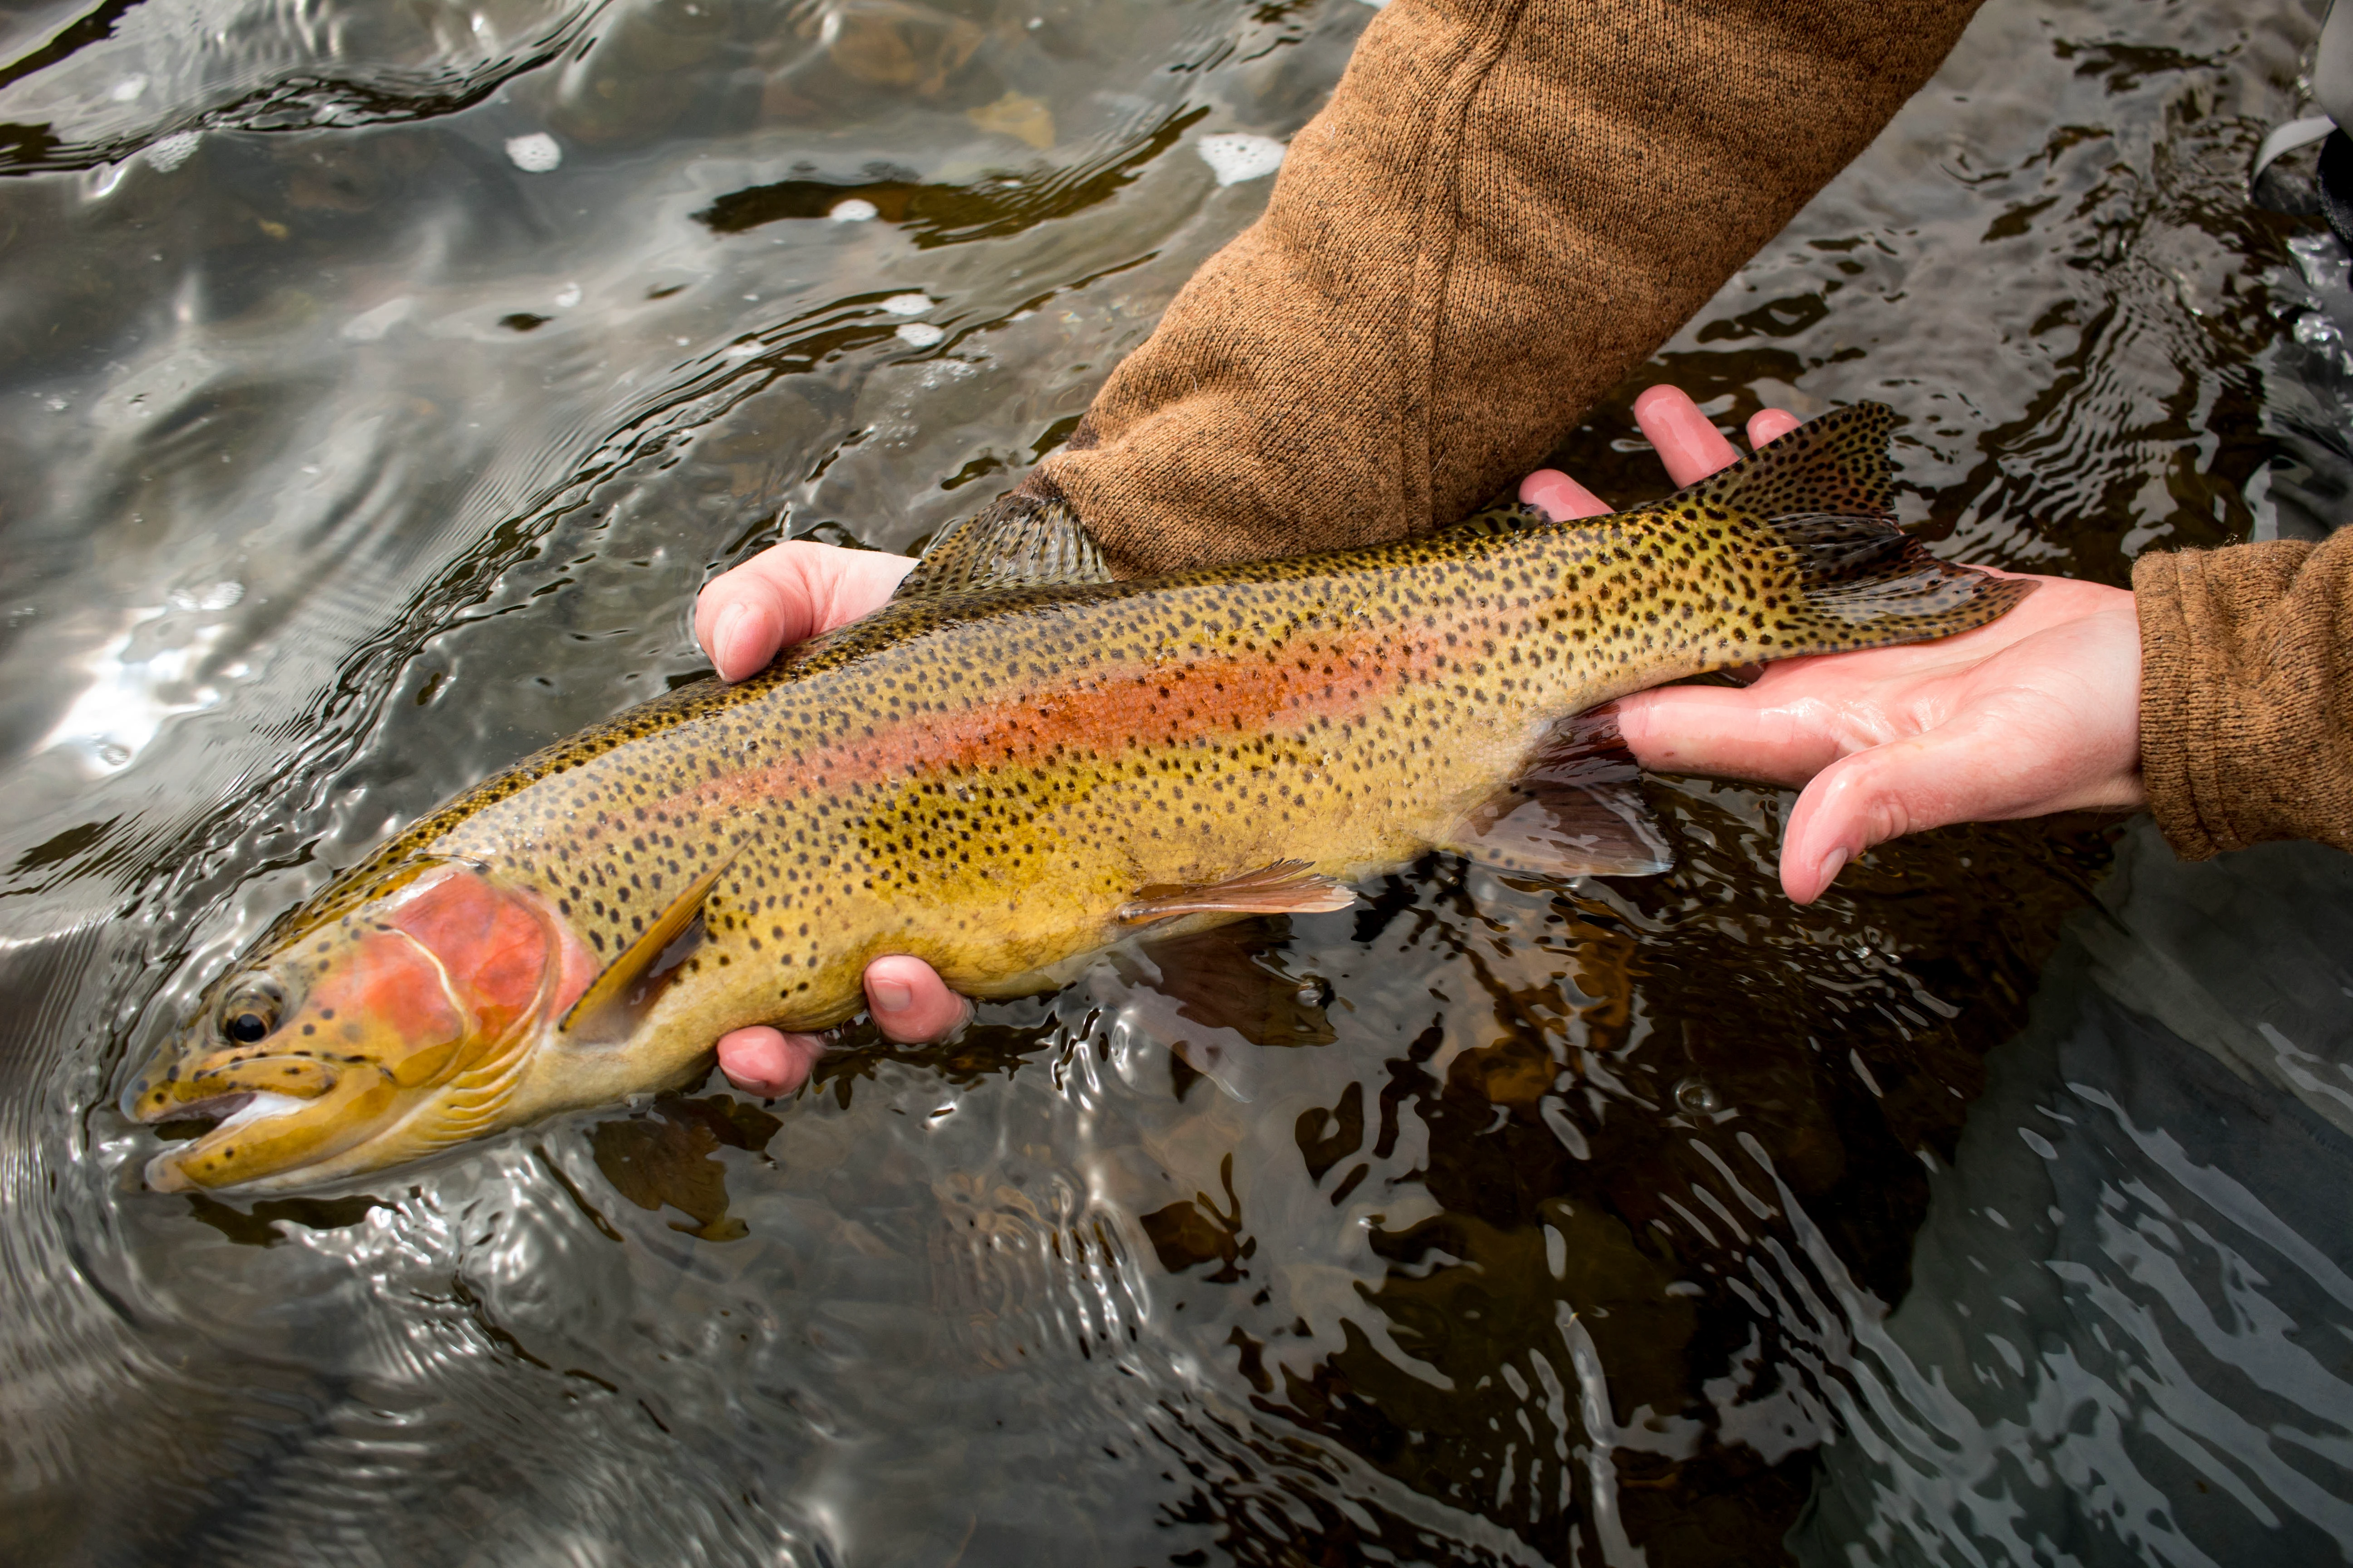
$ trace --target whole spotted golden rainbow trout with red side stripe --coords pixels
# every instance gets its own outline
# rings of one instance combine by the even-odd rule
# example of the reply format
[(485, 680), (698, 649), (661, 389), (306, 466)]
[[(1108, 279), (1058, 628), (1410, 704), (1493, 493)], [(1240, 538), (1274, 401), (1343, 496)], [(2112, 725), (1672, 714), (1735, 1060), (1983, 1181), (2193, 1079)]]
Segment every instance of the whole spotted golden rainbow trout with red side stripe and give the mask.
[(725, 1030), (854, 1016), (885, 952), (1002, 997), (1431, 849), (1664, 870), (1595, 708), (2028, 590), (1894, 527), (1887, 428), (1842, 409), (1609, 517), (1127, 583), (1054, 510), (953, 529), (873, 616), (529, 757), (280, 919), (125, 1091), (216, 1119), (148, 1182), (325, 1182), (692, 1081)]

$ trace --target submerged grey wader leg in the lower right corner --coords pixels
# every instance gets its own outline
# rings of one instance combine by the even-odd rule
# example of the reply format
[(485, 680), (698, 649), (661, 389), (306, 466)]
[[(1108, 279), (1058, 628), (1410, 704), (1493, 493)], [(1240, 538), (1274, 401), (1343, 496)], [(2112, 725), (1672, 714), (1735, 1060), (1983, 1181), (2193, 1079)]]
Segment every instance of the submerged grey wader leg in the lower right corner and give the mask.
[(2146, 825), (1993, 1058), (1812, 1535), (1920, 1561), (2353, 1540), (2353, 860)]

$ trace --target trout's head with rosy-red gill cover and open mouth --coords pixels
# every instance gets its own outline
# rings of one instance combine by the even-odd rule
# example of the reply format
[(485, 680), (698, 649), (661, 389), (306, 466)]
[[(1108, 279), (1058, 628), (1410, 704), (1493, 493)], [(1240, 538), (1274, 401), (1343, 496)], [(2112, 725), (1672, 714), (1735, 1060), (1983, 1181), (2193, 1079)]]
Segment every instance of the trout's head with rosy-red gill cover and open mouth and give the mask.
[(125, 1091), (214, 1126), (148, 1161), (158, 1192), (304, 1187), (506, 1126), (522, 1067), (595, 973), (546, 900), (456, 860), (334, 891), (228, 971)]

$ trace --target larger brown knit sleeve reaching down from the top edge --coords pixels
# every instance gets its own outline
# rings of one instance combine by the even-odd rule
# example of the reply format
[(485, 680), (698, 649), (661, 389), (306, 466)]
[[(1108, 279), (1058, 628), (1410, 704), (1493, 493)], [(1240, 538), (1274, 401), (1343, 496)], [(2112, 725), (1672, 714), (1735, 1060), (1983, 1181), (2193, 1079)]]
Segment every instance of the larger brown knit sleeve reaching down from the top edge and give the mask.
[(1974, 0), (1395, 0), (1061, 454), (1132, 576), (1527, 473), (1929, 78)]

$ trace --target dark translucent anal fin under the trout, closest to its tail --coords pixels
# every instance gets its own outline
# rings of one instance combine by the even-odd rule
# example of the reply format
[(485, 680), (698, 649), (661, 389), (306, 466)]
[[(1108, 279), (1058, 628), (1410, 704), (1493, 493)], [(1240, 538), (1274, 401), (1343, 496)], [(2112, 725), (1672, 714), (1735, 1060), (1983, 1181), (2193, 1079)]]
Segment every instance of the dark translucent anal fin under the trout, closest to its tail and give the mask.
[(1532, 877), (1654, 877), (1675, 851), (1642, 804), (1640, 773), (1614, 710), (1562, 719), (1440, 849)]

